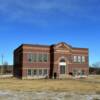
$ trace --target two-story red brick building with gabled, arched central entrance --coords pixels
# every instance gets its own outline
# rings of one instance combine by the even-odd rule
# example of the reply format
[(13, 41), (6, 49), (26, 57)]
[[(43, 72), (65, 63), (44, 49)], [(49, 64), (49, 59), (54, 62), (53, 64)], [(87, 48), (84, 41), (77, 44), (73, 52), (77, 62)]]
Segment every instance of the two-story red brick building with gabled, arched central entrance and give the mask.
[(88, 49), (64, 42), (55, 45), (22, 44), (14, 50), (14, 76), (22, 79), (66, 78), (88, 75)]

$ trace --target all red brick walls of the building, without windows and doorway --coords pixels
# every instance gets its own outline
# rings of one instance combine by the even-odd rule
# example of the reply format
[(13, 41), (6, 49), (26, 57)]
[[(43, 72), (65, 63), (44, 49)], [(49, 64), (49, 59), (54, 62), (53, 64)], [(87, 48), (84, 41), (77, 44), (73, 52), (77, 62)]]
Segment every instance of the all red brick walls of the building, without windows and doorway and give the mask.
[[(58, 50), (58, 51), (57, 51)], [(61, 51), (63, 50), (63, 51)], [(28, 61), (28, 53), (48, 53), (48, 62), (33, 62)], [(86, 57), (86, 62), (83, 64), (74, 63), (74, 55), (84, 55)], [(19, 58), (18, 58), (19, 56)], [(56, 72), (59, 76), (59, 61), (61, 57), (65, 57), (67, 64), (67, 73), (72, 72), (74, 68), (79, 68), (85, 70), (88, 74), (88, 49), (79, 49), (79, 48), (67, 48), (64, 46), (52, 46), (52, 47), (37, 47), (37, 46), (20, 46), (14, 52), (14, 74), (19, 74), (23, 77), (27, 76), (28, 68), (48, 68), (50, 76), (53, 76), (53, 73)], [(19, 64), (16, 64), (15, 60), (19, 59)]]

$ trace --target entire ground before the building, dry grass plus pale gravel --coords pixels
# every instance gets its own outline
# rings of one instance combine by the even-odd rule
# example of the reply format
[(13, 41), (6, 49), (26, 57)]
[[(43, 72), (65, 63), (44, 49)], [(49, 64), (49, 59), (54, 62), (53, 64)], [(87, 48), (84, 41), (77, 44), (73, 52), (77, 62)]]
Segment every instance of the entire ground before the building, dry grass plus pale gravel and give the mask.
[(0, 80), (0, 100), (100, 100), (100, 78)]

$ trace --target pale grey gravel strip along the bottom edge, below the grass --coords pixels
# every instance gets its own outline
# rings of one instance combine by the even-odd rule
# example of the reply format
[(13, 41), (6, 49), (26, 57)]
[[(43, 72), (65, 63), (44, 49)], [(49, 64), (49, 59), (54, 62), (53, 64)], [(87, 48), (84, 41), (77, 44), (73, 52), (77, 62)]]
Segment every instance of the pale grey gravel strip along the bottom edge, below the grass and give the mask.
[(100, 100), (100, 94), (0, 91), (0, 100)]

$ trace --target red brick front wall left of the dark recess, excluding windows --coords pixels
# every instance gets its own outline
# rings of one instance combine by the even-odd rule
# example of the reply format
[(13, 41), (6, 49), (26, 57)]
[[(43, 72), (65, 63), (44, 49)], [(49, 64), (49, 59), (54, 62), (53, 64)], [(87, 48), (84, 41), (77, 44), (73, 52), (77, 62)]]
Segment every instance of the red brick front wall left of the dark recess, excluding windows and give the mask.
[[(44, 50), (43, 50), (44, 49)], [(29, 62), (28, 61), (28, 54), (29, 53), (47, 53), (48, 54), (48, 62)], [(48, 71), (50, 70), (50, 50), (49, 48), (37, 48), (33, 49), (24, 49), (23, 50), (23, 77), (27, 76), (27, 69), (31, 68), (47, 68)]]

